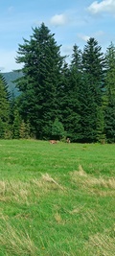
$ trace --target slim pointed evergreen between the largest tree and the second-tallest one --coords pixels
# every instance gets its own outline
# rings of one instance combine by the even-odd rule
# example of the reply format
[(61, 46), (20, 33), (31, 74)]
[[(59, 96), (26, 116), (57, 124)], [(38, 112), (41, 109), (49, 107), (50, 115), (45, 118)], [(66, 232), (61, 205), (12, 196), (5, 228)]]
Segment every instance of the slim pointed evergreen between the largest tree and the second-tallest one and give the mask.
[(80, 140), (81, 134), (81, 112), (80, 112), (80, 88), (81, 88), (81, 50), (75, 44), (73, 47), (72, 60), (70, 64), (69, 78), (69, 137), (73, 141)]

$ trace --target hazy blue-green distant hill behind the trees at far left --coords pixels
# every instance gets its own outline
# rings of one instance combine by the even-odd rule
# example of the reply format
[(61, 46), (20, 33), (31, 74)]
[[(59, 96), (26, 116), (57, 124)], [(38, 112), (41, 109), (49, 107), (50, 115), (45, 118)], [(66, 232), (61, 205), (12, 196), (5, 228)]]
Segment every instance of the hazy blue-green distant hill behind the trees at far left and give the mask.
[(18, 96), (19, 90), (15, 87), (14, 81), (23, 76), (22, 72), (21, 71), (12, 71), (12, 72), (7, 72), (7, 73), (2, 73), (2, 75), (4, 76), (5, 80), (7, 81), (9, 91), (11, 93), (13, 92), (14, 96)]

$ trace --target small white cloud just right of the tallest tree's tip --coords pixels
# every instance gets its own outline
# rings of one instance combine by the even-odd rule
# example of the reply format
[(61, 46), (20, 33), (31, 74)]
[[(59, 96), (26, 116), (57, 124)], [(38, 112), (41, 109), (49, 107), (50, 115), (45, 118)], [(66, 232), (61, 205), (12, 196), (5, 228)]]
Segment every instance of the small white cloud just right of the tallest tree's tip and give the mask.
[(67, 16), (65, 14), (56, 14), (50, 20), (52, 25), (61, 26), (67, 23)]

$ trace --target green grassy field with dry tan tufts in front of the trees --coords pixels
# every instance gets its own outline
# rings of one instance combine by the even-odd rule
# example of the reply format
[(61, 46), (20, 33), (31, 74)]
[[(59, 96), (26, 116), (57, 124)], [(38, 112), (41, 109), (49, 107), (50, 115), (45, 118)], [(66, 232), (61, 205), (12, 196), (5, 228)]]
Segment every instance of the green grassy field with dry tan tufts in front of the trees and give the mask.
[(0, 141), (0, 256), (114, 256), (115, 145)]

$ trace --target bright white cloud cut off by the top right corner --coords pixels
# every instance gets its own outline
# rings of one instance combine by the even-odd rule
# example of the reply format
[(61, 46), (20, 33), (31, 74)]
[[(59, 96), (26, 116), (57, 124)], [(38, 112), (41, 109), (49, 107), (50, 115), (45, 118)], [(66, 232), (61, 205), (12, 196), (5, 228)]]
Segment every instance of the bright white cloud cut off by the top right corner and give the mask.
[(100, 12), (115, 13), (115, 0), (103, 0), (101, 2), (95, 1), (88, 7), (88, 11), (93, 14)]

